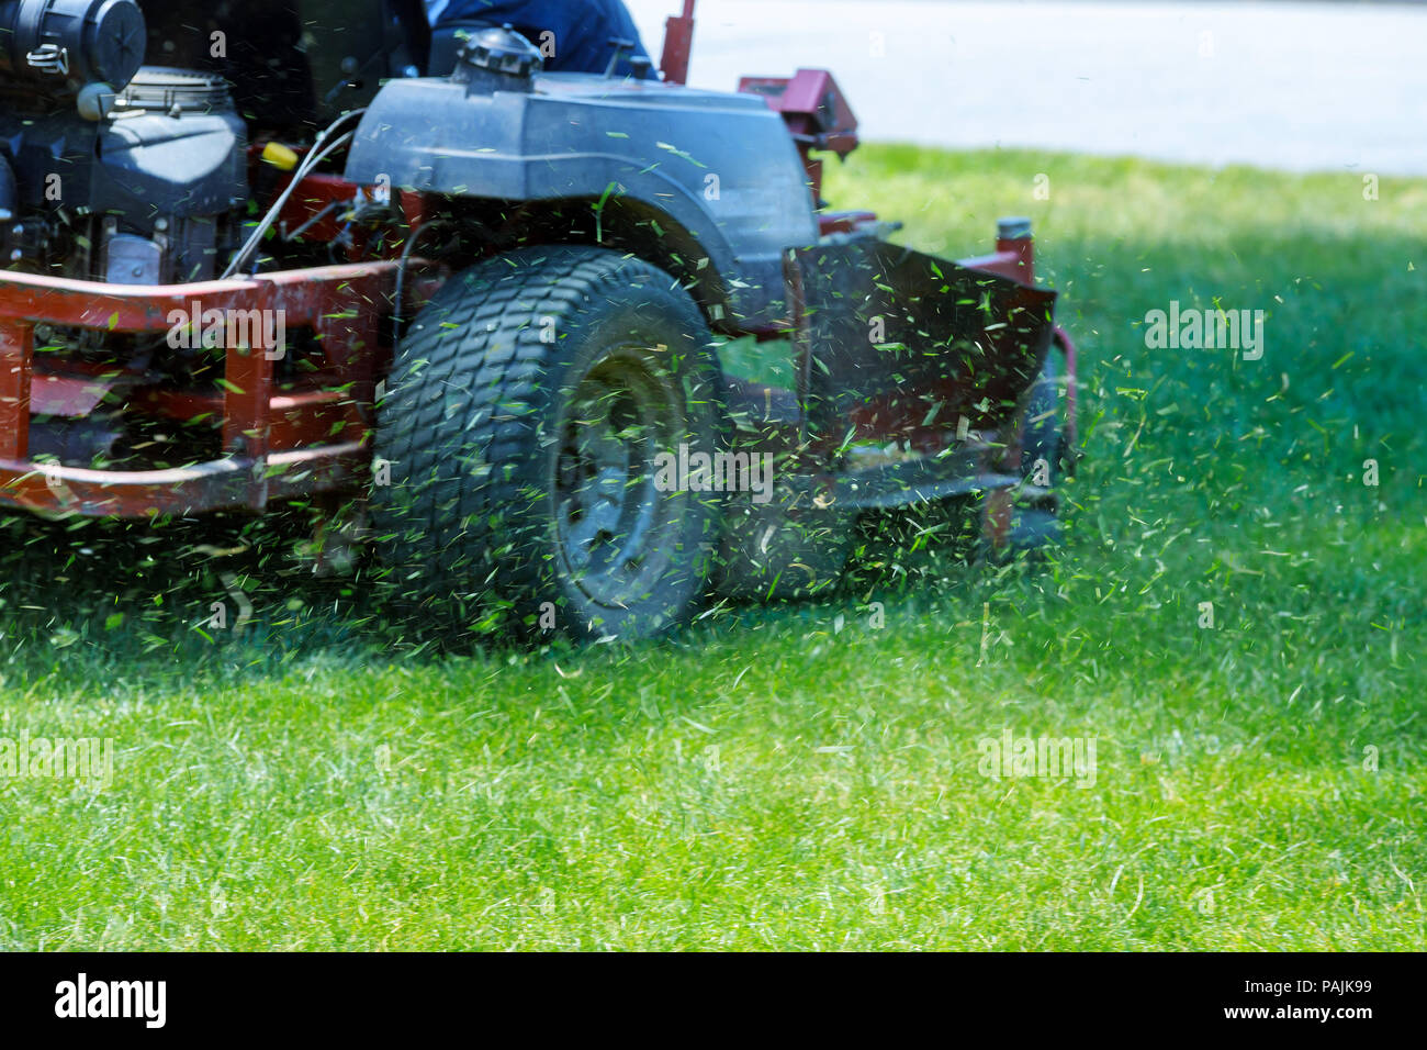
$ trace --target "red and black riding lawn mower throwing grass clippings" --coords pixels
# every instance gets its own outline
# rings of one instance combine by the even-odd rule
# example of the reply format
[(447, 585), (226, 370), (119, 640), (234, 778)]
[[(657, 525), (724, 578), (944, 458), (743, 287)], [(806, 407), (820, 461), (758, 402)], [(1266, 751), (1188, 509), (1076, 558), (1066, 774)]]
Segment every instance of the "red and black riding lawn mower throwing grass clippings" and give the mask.
[(397, 0), (0, 3), (0, 501), (300, 501), (418, 617), (595, 639), (818, 593), (868, 511), (1053, 541), (1029, 221), (889, 241), (822, 199), (835, 79), (696, 90), (692, 34), (568, 73)]

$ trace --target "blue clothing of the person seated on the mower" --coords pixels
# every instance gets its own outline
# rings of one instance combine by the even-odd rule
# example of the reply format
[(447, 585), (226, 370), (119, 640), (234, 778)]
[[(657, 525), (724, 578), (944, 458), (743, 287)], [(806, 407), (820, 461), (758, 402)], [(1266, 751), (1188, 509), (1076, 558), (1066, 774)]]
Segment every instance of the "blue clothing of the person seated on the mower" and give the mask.
[[(509, 23), (537, 47), (545, 51), (545, 69), (551, 71), (604, 73), (615, 49), (611, 37), (634, 41), (625, 51), (616, 71), (629, 76), (628, 59), (648, 59), (639, 40), (639, 29), (629, 17), (622, 0), (425, 0), (427, 19), (432, 29), (452, 23)], [(544, 33), (554, 37), (544, 37)]]

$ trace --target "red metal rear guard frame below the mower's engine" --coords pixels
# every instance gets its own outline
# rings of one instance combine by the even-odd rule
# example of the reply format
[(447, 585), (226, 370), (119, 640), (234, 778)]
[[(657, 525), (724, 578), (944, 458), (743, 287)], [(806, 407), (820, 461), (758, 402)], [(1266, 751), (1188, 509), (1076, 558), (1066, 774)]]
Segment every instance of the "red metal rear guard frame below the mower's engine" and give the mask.
[[(391, 310), (398, 263), (285, 270), (243, 280), (164, 287), (6, 274), (0, 281), (0, 493), (31, 510), (148, 517), (263, 510), (270, 500), (354, 487), (367, 469), (367, 437), (381, 364), (381, 319)], [(39, 323), (164, 334), (174, 310), (283, 311), (290, 331), (317, 336), (314, 380), (334, 389), (280, 391), (263, 350), (230, 346), (223, 393), (154, 387), (134, 411), (221, 417), (221, 459), (164, 470), (88, 470), (29, 457)], [(335, 431), (335, 436), (334, 436)]]

